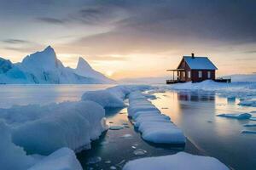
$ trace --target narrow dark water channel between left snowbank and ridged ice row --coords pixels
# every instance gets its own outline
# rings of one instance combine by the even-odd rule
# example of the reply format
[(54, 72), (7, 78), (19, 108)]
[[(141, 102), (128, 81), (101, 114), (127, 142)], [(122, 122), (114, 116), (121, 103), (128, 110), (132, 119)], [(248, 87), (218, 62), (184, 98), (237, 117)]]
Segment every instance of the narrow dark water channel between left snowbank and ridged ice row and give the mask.
[[(121, 169), (125, 162), (133, 159), (171, 155), (178, 151), (201, 155), (201, 152), (189, 141), (185, 145), (149, 144), (143, 141), (141, 134), (129, 122), (126, 109), (107, 111), (107, 115), (109, 126), (124, 126), (125, 124), (126, 127), (120, 130), (108, 130), (101, 139), (92, 143), (91, 150), (84, 150), (79, 153), (77, 156), (84, 169)], [(90, 164), (90, 160), (98, 160), (99, 162)]]

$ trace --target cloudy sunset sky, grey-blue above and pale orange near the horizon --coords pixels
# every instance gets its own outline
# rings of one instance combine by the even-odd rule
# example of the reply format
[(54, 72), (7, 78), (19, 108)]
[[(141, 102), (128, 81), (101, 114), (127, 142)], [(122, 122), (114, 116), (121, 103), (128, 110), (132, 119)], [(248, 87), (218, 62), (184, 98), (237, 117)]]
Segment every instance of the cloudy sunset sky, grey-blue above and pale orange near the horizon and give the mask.
[(217, 75), (256, 72), (255, 0), (0, 0), (0, 56), (20, 62), (48, 45), (114, 79), (165, 77), (183, 55)]

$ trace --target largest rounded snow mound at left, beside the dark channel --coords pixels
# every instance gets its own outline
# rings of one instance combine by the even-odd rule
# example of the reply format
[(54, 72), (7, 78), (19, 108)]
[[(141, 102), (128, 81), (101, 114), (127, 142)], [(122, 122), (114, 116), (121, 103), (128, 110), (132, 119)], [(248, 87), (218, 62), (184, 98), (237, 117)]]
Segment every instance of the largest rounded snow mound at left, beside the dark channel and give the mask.
[(30, 153), (49, 155), (61, 147), (90, 148), (90, 141), (106, 129), (105, 111), (93, 101), (18, 108), (3, 110), (1, 118), (12, 127), (14, 143)]

